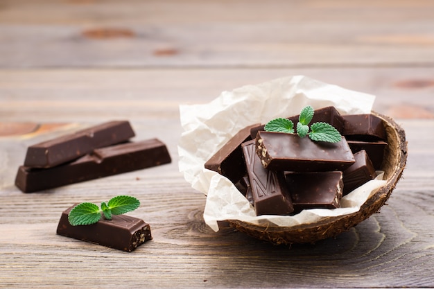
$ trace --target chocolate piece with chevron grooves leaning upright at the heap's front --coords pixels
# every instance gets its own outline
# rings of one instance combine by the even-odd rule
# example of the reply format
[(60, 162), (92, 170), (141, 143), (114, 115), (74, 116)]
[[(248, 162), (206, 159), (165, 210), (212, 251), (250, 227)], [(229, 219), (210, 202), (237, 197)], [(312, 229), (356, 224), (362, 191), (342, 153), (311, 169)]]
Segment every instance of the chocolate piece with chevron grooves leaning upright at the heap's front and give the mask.
[(286, 189), (284, 173), (267, 170), (255, 152), (255, 141), (241, 145), (245, 165), (248, 170), (252, 201), (257, 216), (288, 215), (293, 212), (293, 204)]

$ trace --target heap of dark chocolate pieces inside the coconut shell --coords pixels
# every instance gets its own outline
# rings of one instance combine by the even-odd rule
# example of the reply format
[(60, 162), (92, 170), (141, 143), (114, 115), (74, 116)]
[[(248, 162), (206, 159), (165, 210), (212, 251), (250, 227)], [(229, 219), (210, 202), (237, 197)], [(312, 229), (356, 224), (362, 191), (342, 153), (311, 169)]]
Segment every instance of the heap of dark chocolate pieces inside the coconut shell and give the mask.
[[(293, 123), (299, 116), (288, 117)], [(387, 137), (374, 114), (342, 116), (335, 107), (315, 110), (311, 123), (333, 125), (338, 143), (297, 134), (244, 128), (216, 152), (205, 168), (227, 177), (257, 215), (293, 215), (303, 209), (335, 209), (346, 195), (381, 170)]]

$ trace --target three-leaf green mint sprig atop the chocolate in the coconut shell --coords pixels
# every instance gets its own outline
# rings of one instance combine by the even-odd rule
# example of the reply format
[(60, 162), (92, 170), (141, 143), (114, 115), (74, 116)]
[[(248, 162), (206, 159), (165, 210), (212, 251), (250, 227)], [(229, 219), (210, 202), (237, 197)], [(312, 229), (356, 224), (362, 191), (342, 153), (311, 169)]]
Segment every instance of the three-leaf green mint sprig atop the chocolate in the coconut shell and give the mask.
[[(333, 125), (329, 123), (312, 123), (309, 128), (309, 123), (313, 119), (314, 110), (310, 105), (304, 107), (302, 112), (300, 112), (300, 116), (298, 118), (297, 123), (297, 134), (299, 137), (306, 137), (309, 135), (309, 138), (313, 141), (327, 141), (329, 143), (338, 143), (342, 137), (338, 130), (333, 127)], [(286, 132), (293, 134), (293, 122), (288, 119), (278, 118), (269, 121), (265, 128), (267, 132)], [(309, 132), (311, 130), (311, 132)]]

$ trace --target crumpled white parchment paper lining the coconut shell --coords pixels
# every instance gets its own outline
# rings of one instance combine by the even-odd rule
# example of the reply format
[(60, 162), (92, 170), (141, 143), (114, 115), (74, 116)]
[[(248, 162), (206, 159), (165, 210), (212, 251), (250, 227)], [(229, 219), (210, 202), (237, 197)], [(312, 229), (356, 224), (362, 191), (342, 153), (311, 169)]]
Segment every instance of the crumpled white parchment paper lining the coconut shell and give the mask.
[(211, 103), (180, 105), (184, 132), (178, 145), (179, 168), (193, 189), (207, 195), (204, 211), (207, 225), (214, 231), (218, 231), (218, 221), (223, 220), (290, 227), (358, 211), (376, 189), (385, 185), (383, 174), (342, 198), (339, 209), (309, 209), (295, 216), (256, 216), (254, 208), (234, 184), (205, 169), (204, 164), (248, 125), (299, 114), (306, 105), (314, 109), (333, 105), (340, 114), (370, 113), (374, 99), (370, 94), (306, 76), (292, 76), (223, 91)]

